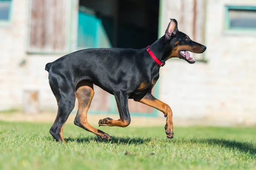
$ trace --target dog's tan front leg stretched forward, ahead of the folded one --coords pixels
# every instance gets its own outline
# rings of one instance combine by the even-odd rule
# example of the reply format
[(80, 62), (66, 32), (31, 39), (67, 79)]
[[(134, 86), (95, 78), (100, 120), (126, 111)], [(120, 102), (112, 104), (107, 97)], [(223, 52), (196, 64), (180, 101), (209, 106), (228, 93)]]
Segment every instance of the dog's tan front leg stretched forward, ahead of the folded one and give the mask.
[(159, 111), (163, 112), (166, 117), (166, 135), (167, 138), (173, 138), (173, 123), (172, 123), (172, 109), (168, 104), (163, 103), (162, 101), (157, 100), (151, 93), (146, 94), (142, 99), (134, 99), (140, 103), (146, 104), (148, 106), (154, 107)]

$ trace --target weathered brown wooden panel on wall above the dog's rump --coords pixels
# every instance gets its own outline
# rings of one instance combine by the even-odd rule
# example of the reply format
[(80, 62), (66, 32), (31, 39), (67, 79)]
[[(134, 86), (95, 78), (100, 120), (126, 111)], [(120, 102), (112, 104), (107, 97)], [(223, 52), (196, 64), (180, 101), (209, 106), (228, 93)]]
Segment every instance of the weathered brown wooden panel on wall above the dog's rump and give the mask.
[(29, 53), (69, 51), (70, 1), (31, 0), (29, 13)]

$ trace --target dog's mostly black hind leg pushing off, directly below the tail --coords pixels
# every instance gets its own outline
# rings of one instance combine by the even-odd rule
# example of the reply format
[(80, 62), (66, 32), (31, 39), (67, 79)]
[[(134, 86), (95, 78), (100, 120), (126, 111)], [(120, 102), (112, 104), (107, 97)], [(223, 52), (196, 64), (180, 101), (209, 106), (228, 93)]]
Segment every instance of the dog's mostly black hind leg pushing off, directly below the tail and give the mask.
[(55, 91), (55, 97), (58, 102), (58, 113), (50, 129), (50, 134), (53, 136), (53, 138), (55, 138), (56, 141), (63, 141), (66, 143), (63, 138), (62, 131), (70, 112), (72, 112), (75, 107), (76, 97), (74, 90), (71, 89), (68, 92), (65, 91), (56, 93)]

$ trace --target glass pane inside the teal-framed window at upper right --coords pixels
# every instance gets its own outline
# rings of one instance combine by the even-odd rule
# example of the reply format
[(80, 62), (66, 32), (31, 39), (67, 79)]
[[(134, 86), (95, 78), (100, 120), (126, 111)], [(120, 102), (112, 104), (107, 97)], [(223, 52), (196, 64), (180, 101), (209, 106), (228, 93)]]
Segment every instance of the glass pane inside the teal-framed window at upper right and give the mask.
[(256, 10), (229, 10), (231, 28), (256, 29)]

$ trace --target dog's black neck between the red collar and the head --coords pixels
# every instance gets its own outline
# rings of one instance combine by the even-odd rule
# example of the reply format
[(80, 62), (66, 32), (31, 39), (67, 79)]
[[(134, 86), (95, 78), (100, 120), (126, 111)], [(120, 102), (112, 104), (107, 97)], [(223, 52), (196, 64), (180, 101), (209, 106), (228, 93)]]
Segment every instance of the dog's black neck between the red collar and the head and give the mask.
[(156, 40), (151, 46), (151, 51), (158, 60), (166, 62), (172, 52), (172, 47), (169, 46), (169, 40), (166, 40), (165, 35)]

